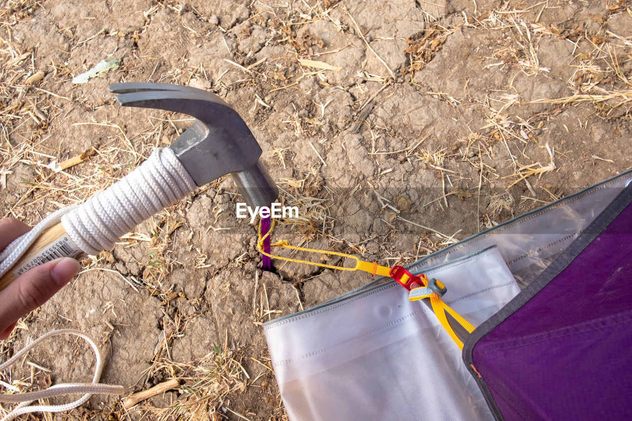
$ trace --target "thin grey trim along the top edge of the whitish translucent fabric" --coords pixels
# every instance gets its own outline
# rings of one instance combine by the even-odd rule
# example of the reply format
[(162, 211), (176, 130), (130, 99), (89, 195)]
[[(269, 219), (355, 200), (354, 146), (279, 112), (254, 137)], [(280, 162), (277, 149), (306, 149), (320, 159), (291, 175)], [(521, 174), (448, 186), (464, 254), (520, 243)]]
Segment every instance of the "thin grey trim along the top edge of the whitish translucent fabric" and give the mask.
[[(419, 266), (422, 265), (424, 262), (427, 262), (430, 259), (434, 259), (435, 257), (437, 257), (440, 254), (443, 254), (445, 252), (451, 252), (451, 250), (454, 250), (458, 247), (461, 247), (462, 245), (465, 245), (465, 243), (470, 243), (470, 241), (473, 240), (477, 240), (478, 238), (485, 236), (485, 235), (489, 235), (490, 233), (492, 233), (493, 231), (496, 231), (497, 229), (502, 229), (506, 226), (508, 226), (509, 224), (514, 224), (514, 223), (518, 223), (519, 221), (521, 221), (522, 219), (528, 218), (528, 217), (533, 217), (537, 214), (539, 214), (540, 212), (543, 212), (547, 209), (550, 209), (552, 207), (555, 207), (559, 204), (562, 203), (566, 203), (569, 200), (575, 200), (576, 198), (585, 195), (586, 193), (589, 192), (593, 192), (594, 190), (597, 190), (598, 188), (604, 188), (607, 187), (610, 184), (616, 183), (616, 181), (621, 180), (621, 178), (625, 178), (626, 176), (632, 176), (632, 169), (629, 169), (628, 171), (625, 171), (624, 173), (618, 174), (616, 176), (613, 176), (611, 178), (609, 178), (608, 180), (604, 180), (601, 181), (600, 183), (597, 183), (595, 185), (592, 186), (588, 186), (586, 188), (584, 188), (583, 190), (580, 190), (580, 192), (576, 192), (573, 193), (572, 195), (568, 195), (566, 197), (562, 197), (559, 200), (556, 200), (555, 202), (551, 202), (548, 205), (544, 205), (543, 207), (539, 207), (538, 209), (533, 209), (530, 212), (526, 212), (526, 214), (514, 217), (513, 219), (510, 219), (509, 221), (505, 221), (504, 223), (498, 224), (497, 226), (494, 226), (492, 228), (489, 229), (485, 229), (485, 231), (482, 231), (481, 233), (478, 233), (476, 235), (470, 236), (468, 238), (465, 238), (464, 240), (459, 241), (458, 243), (454, 243), (453, 245), (449, 245), (445, 248), (442, 248), (441, 250), (437, 250), (434, 253), (430, 253), (429, 255), (422, 257), (422, 259), (417, 260), (416, 262), (411, 263), (410, 265), (406, 266), (406, 269), (408, 269), (409, 271), (411, 271), (412, 273), (415, 273), (416, 271), (418, 271)], [(424, 267), (423, 270), (427, 271), (429, 268), (428, 267)], [(308, 308), (307, 310), (302, 310), (300, 312), (296, 312), (293, 314), (288, 314), (288, 315), (284, 315), (282, 317), (278, 317), (277, 319), (273, 319), (273, 320), (269, 320), (267, 322), (264, 322), (263, 326), (264, 329), (267, 329), (269, 327), (274, 326), (274, 324), (276, 324), (276, 322), (284, 322), (285, 320), (291, 319), (293, 317), (300, 317), (303, 316), (305, 314), (309, 314), (311, 312), (316, 312), (317, 310), (320, 310), (322, 308), (325, 307), (329, 307), (330, 305), (334, 305), (335, 303), (341, 302), (343, 300), (348, 300), (349, 298), (353, 298), (354, 296), (358, 295), (359, 293), (363, 293), (369, 290), (372, 290), (373, 288), (377, 288), (378, 286), (384, 286), (384, 285), (388, 285), (389, 288), (392, 286), (396, 286), (397, 283), (395, 281), (393, 281), (390, 278), (386, 278), (386, 277), (380, 277), (375, 279), (375, 281), (371, 281), (370, 283), (364, 284), (358, 288), (355, 288), (351, 291), (348, 291), (346, 293), (343, 293), (335, 298), (332, 298), (331, 300), (327, 300), (323, 303), (320, 303), (319, 305), (316, 305), (315, 307), (312, 308)]]

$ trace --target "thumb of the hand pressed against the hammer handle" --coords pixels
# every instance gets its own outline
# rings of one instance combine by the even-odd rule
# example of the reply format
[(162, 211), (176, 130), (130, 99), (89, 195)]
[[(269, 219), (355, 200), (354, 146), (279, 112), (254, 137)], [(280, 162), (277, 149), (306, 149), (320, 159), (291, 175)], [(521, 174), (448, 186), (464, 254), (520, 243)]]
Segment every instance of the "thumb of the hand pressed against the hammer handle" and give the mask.
[(62, 257), (29, 269), (0, 291), (0, 333), (46, 303), (79, 272), (75, 259)]

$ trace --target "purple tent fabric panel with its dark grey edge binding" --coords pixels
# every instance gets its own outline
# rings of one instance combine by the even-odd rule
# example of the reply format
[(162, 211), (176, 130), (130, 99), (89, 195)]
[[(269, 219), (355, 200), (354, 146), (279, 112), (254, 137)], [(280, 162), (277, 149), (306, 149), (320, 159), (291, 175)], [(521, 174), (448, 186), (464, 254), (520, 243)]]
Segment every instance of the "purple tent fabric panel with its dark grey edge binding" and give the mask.
[(466, 341), (497, 419), (632, 419), (631, 189)]

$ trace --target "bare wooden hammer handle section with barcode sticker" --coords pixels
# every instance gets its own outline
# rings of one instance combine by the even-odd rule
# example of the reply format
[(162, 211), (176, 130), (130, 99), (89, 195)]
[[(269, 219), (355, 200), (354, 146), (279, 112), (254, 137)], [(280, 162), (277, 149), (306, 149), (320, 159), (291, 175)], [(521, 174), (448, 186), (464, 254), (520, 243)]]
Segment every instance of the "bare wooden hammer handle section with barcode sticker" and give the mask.
[(70, 236), (68, 236), (68, 233), (66, 233), (61, 223), (52, 226), (33, 242), (31, 247), (24, 253), (25, 257), (18, 260), (18, 262), (0, 278), (0, 291), (4, 290), (4, 288), (15, 281), (18, 276), (31, 267), (64, 256), (80, 259), (83, 254), (85, 253), (70, 239)]

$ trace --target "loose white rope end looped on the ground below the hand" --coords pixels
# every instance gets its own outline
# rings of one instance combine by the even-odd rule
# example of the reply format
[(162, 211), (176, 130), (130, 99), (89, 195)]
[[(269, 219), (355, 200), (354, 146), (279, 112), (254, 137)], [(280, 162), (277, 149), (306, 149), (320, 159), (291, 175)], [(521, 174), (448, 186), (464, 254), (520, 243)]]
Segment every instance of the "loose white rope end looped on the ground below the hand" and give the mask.
[[(63, 383), (56, 384), (54, 386), (49, 387), (48, 389), (40, 390), (37, 392), (29, 392), (29, 393), (21, 393), (21, 394), (0, 394), (0, 402), (6, 403), (17, 403), (21, 402), (20, 405), (16, 406), (13, 411), (9, 412), (6, 417), (2, 419), (2, 421), (13, 420), (20, 415), (30, 412), (62, 412), (68, 411), (73, 408), (76, 408), (79, 405), (82, 405), (87, 401), (91, 394), (99, 393), (99, 394), (123, 394), (125, 389), (123, 386), (115, 386), (112, 384), (102, 384), (99, 383), (99, 379), (101, 377), (101, 372), (103, 370), (103, 361), (101, 359), (101, 353), (99, 351), (99, 347), (97, 344), (92, 341), (92, 339), (86, 334), (76, 331), (75, 329), (59, 329), (57, 331), (52, 331), (47, 334), (44, 334), (37, 338), (35, 341), (27, 345), (23, 350), (19, 351), (13, 357), (11, 357), (7, 362), (0, 365), (0, 370), (6, 369), (16, 361), (18, 361), (25, 353), (30, 351), (33, 346), (38, 345), (40, 342), (44, 341), (47, 338), (51, 338), (52, 336), (58, 336), (62, 334), (71, 334), (75, 336), (79, 336), (80, 338), (87, 341), (90, 346), (92, 346), (92, 351), (94, 351), (94, 355), (97, 358), (97, 363), (94, 368), (94, 376), (92, 377), (92, 383)], [(78, 400), (66, 403), (65, 405), (30, 405), (32, 401), (44, 398), (51, 398), (52, 396), (61, 396), (63, 394), (73, 394), (73, 393), (85, 393)]]

